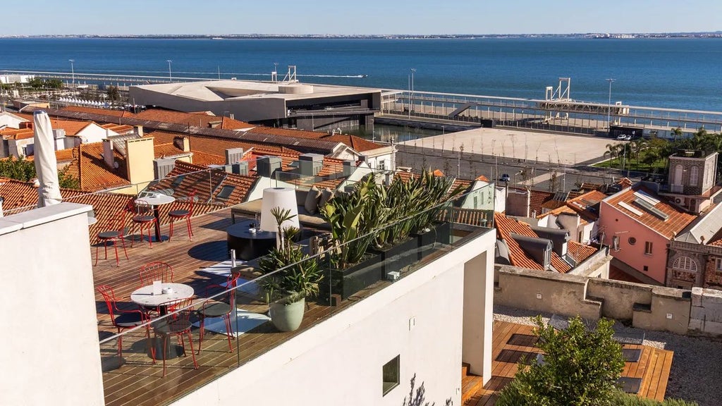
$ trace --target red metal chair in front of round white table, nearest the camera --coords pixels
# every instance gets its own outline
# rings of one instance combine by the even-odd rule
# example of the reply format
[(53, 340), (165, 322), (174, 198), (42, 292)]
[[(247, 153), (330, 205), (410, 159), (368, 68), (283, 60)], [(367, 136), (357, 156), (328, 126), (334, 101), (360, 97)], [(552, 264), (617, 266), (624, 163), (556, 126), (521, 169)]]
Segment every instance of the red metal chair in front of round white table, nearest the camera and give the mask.
[[(186, 340), (183, 335), (188, 334), (188, 342), (191, 344), (191, 355), (193, 356), (193, 368), (198, 369), (198, 363), (196, 362), (196, 353), (193, 350), (193, 337), (191, 337), (191, 313), (193, 313), (193, 299), (179, 299), (162, 303), (160, 306), (167, 306), (168, 308), (178, 308), (180, 310), (169, 314), (164, 319), (155, 321), (153, 324), (153, 332), (157, 339), (158, 336), (162, 337), (160, 347), (162, 348), (163, 356), (163, 376), (165, 376), (165, 358), (166, 350), (168, 348), (168, 338), (171, 335), (178, 337), (178, 341), (183, 346), (183, 356), (186, 354)], [(155, 351), (153, 354), (153, 362), (155, 363)]]

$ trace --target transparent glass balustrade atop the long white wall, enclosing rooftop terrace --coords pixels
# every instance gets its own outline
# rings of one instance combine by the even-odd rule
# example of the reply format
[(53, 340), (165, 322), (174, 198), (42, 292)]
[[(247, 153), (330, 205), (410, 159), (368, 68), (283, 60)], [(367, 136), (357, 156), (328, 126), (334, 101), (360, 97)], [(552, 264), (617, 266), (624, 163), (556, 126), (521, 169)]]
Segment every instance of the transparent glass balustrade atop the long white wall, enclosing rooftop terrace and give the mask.
[[(488, 189), (488, 190), (487, 190)], [(233, 298), (233, 311), (230, 312), (230, 321), (233, 332), (243, 332), (235, 340), (230, 341), (232, 352), (225, 334), (206, 334), (203, 347), (196, 355), (199, 368), (193, 369), (190, 346), (186, 340), (186, 354), (188, 356), (166, 360), (167, 376), (162, 377), (162, 360), (153, 363), (152, 352), (149, 348), (157, 348), (154, 340), (154, 329), (163, 321), (173, 319), (183, 309), (175, 309), (168, 315), (143, 324), (134, 329), (128, 329), (121, 334), (112, 334), (100, 341), (100, 354), (105, 365), (110, 366), (103, 373), (106, 403), (140, 404), (139, 399), (144, 393), (154, 392), (155, 404), (168, 404), (185, 394), (198, 389), (199, 386), (209, 383), (219, 376), (225, 375), (236, 368), (241, 368), (248, 361), (272, 350), (283, 342), (290, 340), (296, 334), (313, 328), (316, 324), (333, 317), (339, 311), (354, 306), (360, 301), (374, 295), (398, 280), (412, 275), (417, 269), (430, 264), (440, 257), (458, 249), (465, 243), (479, 235), (490, 232), (489, 228), (478, 225), (458, 223), (458, 219), (473, 219), (466, 223), (484, 224), (492, 226), (493, 207), (488, 210), (462, 208), (466, 202), (481, 199), (469, 199), (472, 195), (492, 193), (494, 184), (484, 189), (471, 191), (469, 194), (446, 202), (424, 212), (419, 212), (405, 219), (378, 228), (351, 241), (334, 246), (323, 242), (318, 252), (310, 252), (310, 257), (303, 261), (290, 264), (274, 272), (261, 275), (257, 267), (236, 267), (234, 275), (241, 275), (235, 288), (230, 290), (218, 289), (211, 295), (204, 292), (196, 293), (201, 298), (193, 303), (195, 311), (203, 308), (204, 304), (212, 301), (224, 301), (230, 294)], [(493, 196), (492, 196), (493, 201)], [(477, 215), (469, 215), (476, 210)], [(461, 213), (464, 213), (463, 215)], [(418, 223), (422, 219), (437, 219), (426, 227), (419, 228), (402, 241), (396, 241), (391, 246), (378, 246), (382, 237), (388, 236), (390, 230), (398, 230), (409, 223)], [(424, 220), (425, 221), (425, 220)], [(323, 236), (321, 236), (323, 237)], [(323, 241), (323, 238), (321, 239)], [(326, 240), (327, 241), (327, 240)], [(305, 241), (300, 244), (306, 245)], [(362, 247), (366, 247), (363, 249)], [(361, 247), (361, 248), (360, 248)], [(363, 249), (361, 259), (354, 264), (342, 264), (339, 257), (347, 251)], [(306, 250), (306, 249), (305, 249)], [(306, 250), (308, 251), (308, 250)], [(305, 316), (300, 329), (295, 332), (279, 332), (266, 314), (275, 316), (277, 306), (274, 300), (281, 298), (277, 290), (273, 289), (280, 280), (288, 277), (297, 277), (299, 272), (308, 272), (316, 269), (320, 272), (318, 294), (315, 297), (305, 298)], [(207, 322), (206, 322), (207, 323)], [(222, 322), (211, 327), (217, 332), (225, 332)], [(219, 330), (220, 328), (220, 330)], [(206, 331), (209, 329), (206, 324)], [(114, 331), (114, 330), (113, 330)], [(147, 338), (150, 335), (150, 339)], [(193, 348), (198, 351), (199, 330), (192, 330)], [(118, 343), (122, 337), (123, 358), (118, 358)], [(213, 338), (214, 337), (214, 338)], [(219, 339), (219, 337), (221, 337)], [(175, 339), (171, 340), (171, 352), (178, 351)], [(125, 364), (125, 366), (121, 366)], [(116, 368), (120, 366), (119, 368)], [(115, 368), (115, 369), (114, 369)], [(160, 400), (158, 400), (160, 399)]]

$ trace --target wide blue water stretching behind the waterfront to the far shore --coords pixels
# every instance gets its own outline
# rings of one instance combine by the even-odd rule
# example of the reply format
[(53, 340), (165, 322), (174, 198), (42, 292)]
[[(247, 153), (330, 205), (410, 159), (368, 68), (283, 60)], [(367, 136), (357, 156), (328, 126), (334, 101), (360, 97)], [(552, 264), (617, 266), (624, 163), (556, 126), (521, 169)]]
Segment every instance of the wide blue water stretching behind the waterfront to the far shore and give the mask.
[[(571, 78), (575, 100), (722, 111), (719, 39), (145, 39), (0, 38), (0, 70), (270, 79), (544, 98)], [(361, 75), (367, 75), (360, 77)]]

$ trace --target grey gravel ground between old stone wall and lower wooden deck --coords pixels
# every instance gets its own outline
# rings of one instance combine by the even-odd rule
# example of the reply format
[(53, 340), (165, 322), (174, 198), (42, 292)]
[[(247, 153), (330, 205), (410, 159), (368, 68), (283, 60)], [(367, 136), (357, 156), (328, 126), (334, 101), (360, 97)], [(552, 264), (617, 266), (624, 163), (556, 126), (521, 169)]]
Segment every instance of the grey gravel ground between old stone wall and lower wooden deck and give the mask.
[[(530, 317), (536, 314), (541, 314), (545, 321), (552, 316), (539, 311), (494, 306), (495, 320), (531, 325)], [(700, 406), (722, 405), (722, 342), (625, 327), (619, 321), (615, 321), (614, 330), (643, 331), (644, 345), (674, 351), (666, 397), (694, 400)]]

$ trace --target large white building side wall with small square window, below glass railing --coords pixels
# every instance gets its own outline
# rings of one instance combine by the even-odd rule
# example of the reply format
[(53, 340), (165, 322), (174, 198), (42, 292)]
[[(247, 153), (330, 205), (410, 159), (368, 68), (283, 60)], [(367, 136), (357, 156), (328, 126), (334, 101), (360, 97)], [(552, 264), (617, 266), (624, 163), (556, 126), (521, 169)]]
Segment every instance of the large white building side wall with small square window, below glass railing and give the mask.
[[(414, 375), (417, 388), (424, 384), (427, 402), (451, 399), (460, 405), (466, 321), (484, 325), (469, 332), (491, 340), (492, 306), (483, 295), (491, 287), (492, 255), (483, 253), (492, 252), (494, 235), (489, 231), (440, 256), (173, 405), (266, 405), (273, 399), (278, 405), (399, 406)], [(467, 319), (472, 316), (464, 314), (467, 299), (485, 306), (483, 315)], [(486, 348), (480, 340), (472, 341)], [(382, 366), (396, 355), (399, 386), (383, 396)], [(490, 371), (491, 354), (476, 356), (488, 363), (479, 369)]]

